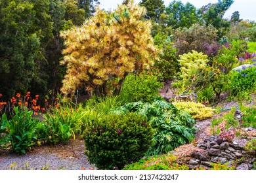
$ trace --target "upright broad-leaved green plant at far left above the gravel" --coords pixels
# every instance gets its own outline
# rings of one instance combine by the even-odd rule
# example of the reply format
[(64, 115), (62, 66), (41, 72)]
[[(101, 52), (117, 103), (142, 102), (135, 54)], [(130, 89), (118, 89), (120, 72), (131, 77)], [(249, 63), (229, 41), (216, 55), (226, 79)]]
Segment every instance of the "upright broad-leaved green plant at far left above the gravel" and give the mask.
[(38, 118), (32, 117), (33, 111), (28, 108), (19, 110), (19, 107), (14, 107), (14, 116), (11, 120), (7, 120), (7, 115), (3, 114), (1, 127), (6, 130), (8, 141), (11, 142), (11, 149), (14, 152), (25, 154), (30, 146), (34, 145), (37, 141), (37, 123)]

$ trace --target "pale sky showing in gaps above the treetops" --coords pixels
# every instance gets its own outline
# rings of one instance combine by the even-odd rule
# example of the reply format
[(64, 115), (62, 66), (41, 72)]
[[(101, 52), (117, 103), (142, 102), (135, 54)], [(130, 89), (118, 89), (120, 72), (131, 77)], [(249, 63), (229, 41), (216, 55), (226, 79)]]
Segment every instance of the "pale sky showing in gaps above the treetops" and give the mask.
[[(105, 10), (113, 10), (117, 7), (117, 5), (121, 4), (123, 0), (99, 0), (100, 8), (104, 8)], [(141, 0), (135, 0), (135, 3), (139, 3)], [(183, 4), (190, 2), (196, 8), (201, 8), (203, 5), (207, 5), (208, 3), (217, 3), (218, 0), (181, 0)], [(169, 5), (172, 0), (164, 0), (165, 6)], [(231, 18), (233, 12), (239, 11), (240, 18), (244, 20), (254, 20), (256, 21), (256, 1), (255, 0), (234, 0), (234, 3), (224, 14), (224, 18)]]

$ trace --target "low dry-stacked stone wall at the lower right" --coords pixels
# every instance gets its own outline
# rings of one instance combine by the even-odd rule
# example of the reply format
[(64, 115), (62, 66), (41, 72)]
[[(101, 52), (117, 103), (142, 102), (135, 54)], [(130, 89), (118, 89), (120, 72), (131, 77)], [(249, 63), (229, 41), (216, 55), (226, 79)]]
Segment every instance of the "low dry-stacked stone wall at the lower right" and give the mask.
[(237, 170), (249, 170), (253, 167), (256, 157), (244, 150), (246, 141), (242, 139), (238, 142), (223, 142), (218, 136), (198, 141), (197, 148), (202, 149), (204, 153), (193, 152), (187, 166), (190, 169), (211, 169), (211, 163), (228, 163), (228, 166), (234, 165)]

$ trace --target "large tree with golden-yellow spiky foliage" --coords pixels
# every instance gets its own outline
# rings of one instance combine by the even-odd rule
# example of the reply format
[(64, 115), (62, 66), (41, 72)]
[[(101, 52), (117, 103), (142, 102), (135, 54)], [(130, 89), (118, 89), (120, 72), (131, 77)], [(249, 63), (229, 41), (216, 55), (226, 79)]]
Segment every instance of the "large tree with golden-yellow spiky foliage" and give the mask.
[(119, 93), (128, 73), (151, 65), (157, 50), (145, 13), (133, 1), (119, 5), (112, 14), (96, 8), (83, 25), (62, 32), (66, 48), (61, 64), (67, 65), (62, 93), (78, 88), (96, 95)]

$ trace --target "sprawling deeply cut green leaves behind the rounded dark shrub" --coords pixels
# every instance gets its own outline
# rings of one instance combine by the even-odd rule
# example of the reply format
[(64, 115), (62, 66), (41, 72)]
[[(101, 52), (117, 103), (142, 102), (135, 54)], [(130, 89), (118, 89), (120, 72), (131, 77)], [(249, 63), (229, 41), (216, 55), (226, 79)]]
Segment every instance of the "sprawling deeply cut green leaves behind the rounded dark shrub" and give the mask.
[(178, 110), (171, 103), (158, 100), (150, 104), (140, 101), (127, 103), (112, 111), (114, 114), (126, 114), (127, 112), (137, 112), (146, 116), (148, 122), (156, 130), (154, 144), (148, 150), (148, 155), (169, 152), (194, 139), (195, 120), (190, 114)]

